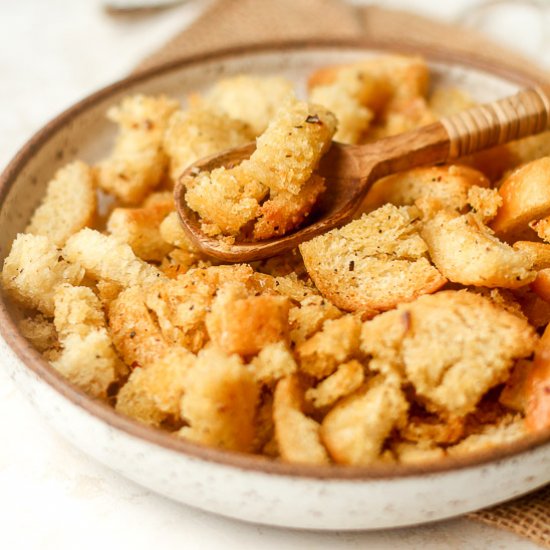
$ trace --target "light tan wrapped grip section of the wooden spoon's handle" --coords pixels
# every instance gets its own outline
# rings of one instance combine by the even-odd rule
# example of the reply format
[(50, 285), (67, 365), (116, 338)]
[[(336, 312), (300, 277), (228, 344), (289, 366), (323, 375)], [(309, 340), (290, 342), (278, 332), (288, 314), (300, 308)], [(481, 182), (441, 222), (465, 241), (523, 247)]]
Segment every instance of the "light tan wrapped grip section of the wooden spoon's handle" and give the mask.
[(550, 86), (537, 86), (441, 119), (447, 160), (538, 134), (550, 126)]

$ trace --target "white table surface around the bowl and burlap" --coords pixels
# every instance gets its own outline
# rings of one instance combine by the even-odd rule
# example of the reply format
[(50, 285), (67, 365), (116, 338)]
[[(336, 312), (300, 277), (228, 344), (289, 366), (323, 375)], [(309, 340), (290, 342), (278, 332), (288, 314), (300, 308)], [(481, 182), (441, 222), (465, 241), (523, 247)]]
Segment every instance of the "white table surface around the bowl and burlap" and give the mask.
[[(433, 8), (435, 15), (450, 19), (470, 3), (423, 0), (415, 7), (422, 13)], [(56, 113), (127, 73), (203, 7), (193, 1), (139, 19), (114, 19), (99, 0), (2, 0), (0, 168)], [(523, 46), (532, 48), (529, 42)], [(194, 510), (74, 449), (45, 424), (0, 367), (0, 549), (115, 547), (527, 550), (535, 545), (465, 519), (391, 531), (321, 533), (249, 525)]]

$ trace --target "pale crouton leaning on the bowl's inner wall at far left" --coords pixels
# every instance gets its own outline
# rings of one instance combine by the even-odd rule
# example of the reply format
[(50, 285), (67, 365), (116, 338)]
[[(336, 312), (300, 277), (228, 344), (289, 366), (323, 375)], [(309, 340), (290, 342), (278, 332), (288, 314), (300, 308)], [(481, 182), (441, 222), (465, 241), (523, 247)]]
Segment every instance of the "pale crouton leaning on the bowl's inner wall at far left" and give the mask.
[(83, 162), (72, 162), (48, 183), (25, 233), (44, 235), (56, 246), (63, 246), (71, 235), (92, 223), (95, 210), (93, 171)]

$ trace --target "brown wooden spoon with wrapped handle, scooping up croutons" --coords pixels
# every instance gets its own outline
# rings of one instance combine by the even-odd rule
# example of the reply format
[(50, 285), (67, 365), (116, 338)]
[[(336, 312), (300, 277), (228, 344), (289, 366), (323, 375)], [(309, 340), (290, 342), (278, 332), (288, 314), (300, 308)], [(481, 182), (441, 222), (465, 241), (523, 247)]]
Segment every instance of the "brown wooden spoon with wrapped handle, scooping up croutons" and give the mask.
[(226, 262), (248, 262), (288, 251), (315, 235), (349, 221), (371, 185), (381, 177), (437, 164), (538, 134), (550, 127), (550, 86), (526, 89), (518, 94), (480, 105), (410, 132), (366, 145), (333, 142), (317, 173), (327, 181), (327, 190), (315, 207), (310, 223), (291, 233), (265, 241), (235, 242), (209, 237), (200, 219), (185, 202), (185, 176), (214, 168), (236, 166), (250, 157), (251, 143), (201, 159), (188, 167), (175, 187), (176, 208), (183, 228), (209, 256)]

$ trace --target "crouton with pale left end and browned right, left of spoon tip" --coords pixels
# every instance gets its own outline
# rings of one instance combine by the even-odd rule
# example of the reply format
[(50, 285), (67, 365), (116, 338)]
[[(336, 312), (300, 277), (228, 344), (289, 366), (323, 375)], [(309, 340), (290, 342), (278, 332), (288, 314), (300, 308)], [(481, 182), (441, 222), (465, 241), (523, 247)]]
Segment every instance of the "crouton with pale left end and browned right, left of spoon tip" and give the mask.
[(142, 260), (160, 261), (172, 246), (161, 236), (160, 224), (173, 210), (173, 204), (142, 208), (115, 208), (107, 221), (107, 230), (120, 242), (130, 245)]

